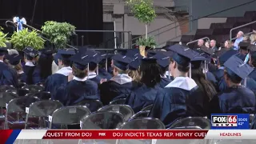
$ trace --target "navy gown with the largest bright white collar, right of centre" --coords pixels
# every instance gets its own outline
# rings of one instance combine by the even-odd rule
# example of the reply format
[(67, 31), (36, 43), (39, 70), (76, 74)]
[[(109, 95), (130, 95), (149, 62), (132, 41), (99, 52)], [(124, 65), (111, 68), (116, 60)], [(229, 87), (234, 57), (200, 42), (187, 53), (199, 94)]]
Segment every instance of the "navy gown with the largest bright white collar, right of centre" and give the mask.
[(159, 90), (150, 111), (150, 117), (158, 118), (166, 127), (170, 127), (179, 118), (190, 116), (193, 112), (187, 111), (186, 98), (194, 94), (197, 88), (198, 86), (191, 78), (174, 78), (173, 82), (163, 90)]

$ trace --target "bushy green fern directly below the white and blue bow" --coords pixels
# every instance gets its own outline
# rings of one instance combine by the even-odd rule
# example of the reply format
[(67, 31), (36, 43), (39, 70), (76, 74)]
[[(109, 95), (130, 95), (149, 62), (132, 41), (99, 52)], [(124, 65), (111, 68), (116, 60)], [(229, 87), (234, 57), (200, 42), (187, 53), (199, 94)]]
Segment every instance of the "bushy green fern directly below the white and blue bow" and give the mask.
[(18, 32), (15, 31), (11, 36), (10, 42), (13, 43), (14, 48), (17, 50), (23, 50), (26, 46), (40, 50), (44, 47), (45, 40), (38, 35), (37, 31), (30, 32), (28, 29), (23, 29)]

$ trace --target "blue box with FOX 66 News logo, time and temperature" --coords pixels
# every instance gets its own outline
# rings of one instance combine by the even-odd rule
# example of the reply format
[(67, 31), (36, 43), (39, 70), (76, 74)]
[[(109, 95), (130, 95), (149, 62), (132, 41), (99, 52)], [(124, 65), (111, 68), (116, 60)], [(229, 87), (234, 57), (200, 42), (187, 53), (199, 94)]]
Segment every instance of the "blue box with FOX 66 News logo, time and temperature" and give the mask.
[(250, 129), (250, 114), (211, 114), (211, 129)]

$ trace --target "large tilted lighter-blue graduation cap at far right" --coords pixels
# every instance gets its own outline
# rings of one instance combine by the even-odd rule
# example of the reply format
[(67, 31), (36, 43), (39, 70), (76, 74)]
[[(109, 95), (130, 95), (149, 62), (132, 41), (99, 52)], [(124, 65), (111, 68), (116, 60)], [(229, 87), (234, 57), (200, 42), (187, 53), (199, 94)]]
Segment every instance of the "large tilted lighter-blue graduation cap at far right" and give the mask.
[(232, 56), (225, 63), (226, 73), (232, 76), (238, 76), (245, 79), (254, 69), (236, 56)]

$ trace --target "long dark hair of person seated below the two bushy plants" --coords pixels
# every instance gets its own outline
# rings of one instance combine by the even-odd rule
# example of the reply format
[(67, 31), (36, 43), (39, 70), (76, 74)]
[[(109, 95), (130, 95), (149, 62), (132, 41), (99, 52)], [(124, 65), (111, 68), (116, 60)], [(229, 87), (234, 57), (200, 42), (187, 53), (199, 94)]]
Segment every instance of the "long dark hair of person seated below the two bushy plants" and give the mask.
[(53, 62), (53, 56), (40, 56), (38, 58), (38, 66), (40, 68), (40, 77), (42, 79), (46, 79), (48, 76), (52, 74), (51, 64)]

